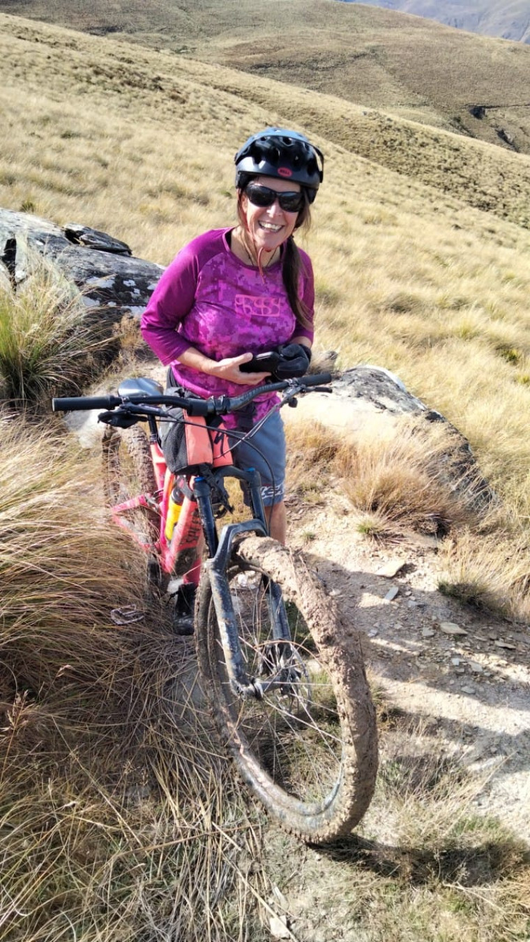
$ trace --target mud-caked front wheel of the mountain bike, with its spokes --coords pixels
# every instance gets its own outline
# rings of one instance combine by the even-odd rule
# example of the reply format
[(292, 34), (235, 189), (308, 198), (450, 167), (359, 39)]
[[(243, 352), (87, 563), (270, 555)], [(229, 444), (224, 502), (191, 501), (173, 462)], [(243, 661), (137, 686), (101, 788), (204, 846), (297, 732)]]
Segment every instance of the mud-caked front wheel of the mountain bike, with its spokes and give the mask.
[(250, 677), (279, 670), (268, 580), (280, 585), (295, 679), (262, 700), (233, 694), (205, 572), (196, 607), (197, 649), (221, 739), (249, 788), (286, 830), (312, 843), (347, 835), (370, 804), (377, 774), (376, 716), (359, 636), (342, 623), (303, 557), (269, 538), (243, 537), (227, 578)]

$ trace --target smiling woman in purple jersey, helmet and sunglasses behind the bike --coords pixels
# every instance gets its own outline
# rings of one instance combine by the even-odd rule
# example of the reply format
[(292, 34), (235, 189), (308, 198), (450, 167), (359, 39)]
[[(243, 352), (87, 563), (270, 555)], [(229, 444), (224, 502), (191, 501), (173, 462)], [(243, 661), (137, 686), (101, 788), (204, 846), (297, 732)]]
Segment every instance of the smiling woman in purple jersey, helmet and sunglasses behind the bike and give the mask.
[[(146, 342), (171, 365), (173, 384), (204, 398), (236, 396), (265, 382), (269, 373), (245, 371), (257, 353), (287, 345), (284, 360), (291, 358), (291, 375), (298, 376), (311, 360), (313, 268), (293, 234), (309, 224), (324, 157), (303, 135), (273, 127), (249, 138), (234, 161), (238, 224), (185, 246), (162, 275), (141, 321)], [(283, 375), (289, 375), (288, 363)], [(265, 394), (251, 414), (227, 416), (227, 428), (249, 430), (276, 398)], [(251, 444), (235, 447), (233, 460), (260, 471), (270, 534), (284, 543), (285, 439), (279, 413), (267, 419)]]

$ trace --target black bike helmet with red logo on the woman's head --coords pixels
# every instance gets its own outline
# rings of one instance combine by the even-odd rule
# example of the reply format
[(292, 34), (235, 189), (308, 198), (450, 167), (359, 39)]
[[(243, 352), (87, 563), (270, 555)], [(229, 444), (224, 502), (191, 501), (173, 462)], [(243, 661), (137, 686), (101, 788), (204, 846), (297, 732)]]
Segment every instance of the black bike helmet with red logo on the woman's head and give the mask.
[(281, 127), (266, 127), (265, 131), (253, 134), (233, 160), (238, 189), (244, 189), (253, 176), (279, 177), (305, 187), (309, 202), (313, 203), (324, 179), (324, 154), (303, 134)]

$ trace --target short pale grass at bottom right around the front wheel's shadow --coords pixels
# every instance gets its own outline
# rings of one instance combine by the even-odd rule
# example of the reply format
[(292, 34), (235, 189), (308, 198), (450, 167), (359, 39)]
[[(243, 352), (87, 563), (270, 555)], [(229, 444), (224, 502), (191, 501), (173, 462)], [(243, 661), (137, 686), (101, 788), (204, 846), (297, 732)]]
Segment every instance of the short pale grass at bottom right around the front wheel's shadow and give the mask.
[(305, 854), (295, 873), (293, 843), (274, 832), (266, 841), (297, 937), (523, 942), (530, 861), (477, 815), (486, 776), (463, 771), (449, 743), (388, 704), (380, 726), (377, 790), (358, 834)]

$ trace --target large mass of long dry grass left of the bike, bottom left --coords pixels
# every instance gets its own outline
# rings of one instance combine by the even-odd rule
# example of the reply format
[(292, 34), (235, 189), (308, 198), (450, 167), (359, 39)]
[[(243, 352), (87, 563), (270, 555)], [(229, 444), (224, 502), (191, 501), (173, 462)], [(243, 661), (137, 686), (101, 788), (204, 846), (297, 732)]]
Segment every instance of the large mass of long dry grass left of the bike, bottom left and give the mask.
[[(0, 931), (238, 938), (260, 896), (239, 871), (257, 825), (217, 755), (194, 660), (97, 510), (99, 461), (0, 424)], [(118, 628), (125, 605), (144, 618)]]

